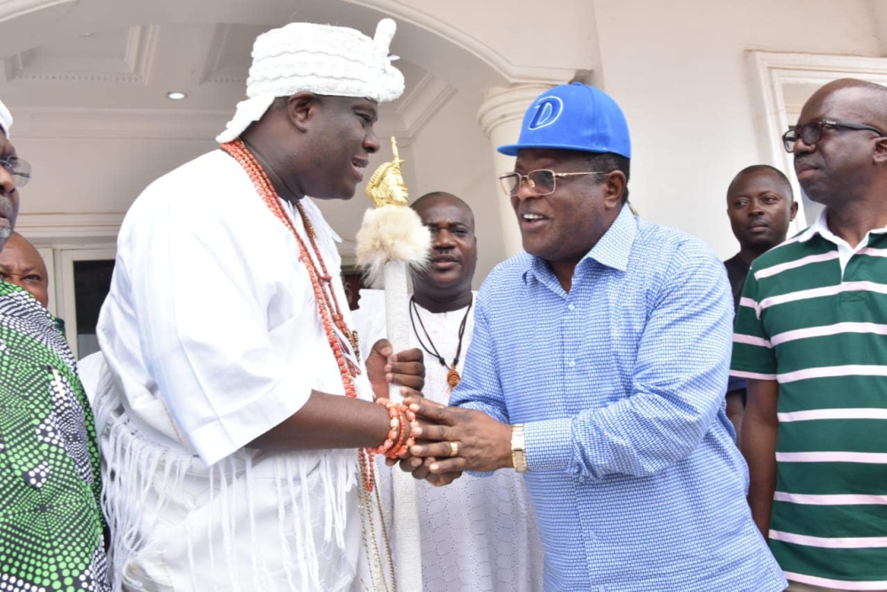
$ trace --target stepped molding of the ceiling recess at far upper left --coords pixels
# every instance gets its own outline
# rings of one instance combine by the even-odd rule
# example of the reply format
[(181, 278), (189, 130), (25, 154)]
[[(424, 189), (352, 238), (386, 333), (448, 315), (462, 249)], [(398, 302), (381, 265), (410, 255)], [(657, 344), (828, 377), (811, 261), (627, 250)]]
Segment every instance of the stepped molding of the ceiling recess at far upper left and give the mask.
[(120, 59), (101, 59), (106, 67), (87, 70), (78, 67), (66, 70), (64, 61), (49, 70), (31, 69), (27, 65), (27, 51), (4, 59), (6, 80), (9, 82), (41, 83), (130, 83), (147, 84), (154, 54), (157, 51), (158, 25), (137, 25), (129, 28)]

